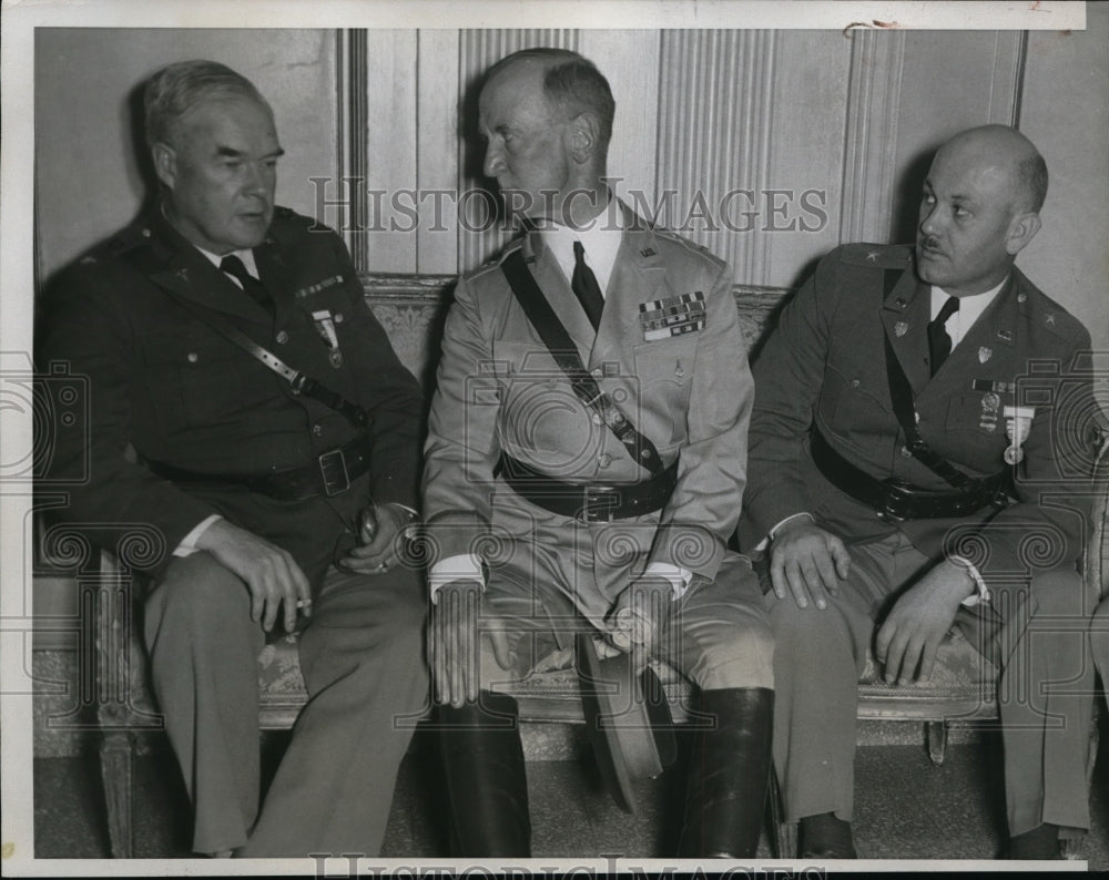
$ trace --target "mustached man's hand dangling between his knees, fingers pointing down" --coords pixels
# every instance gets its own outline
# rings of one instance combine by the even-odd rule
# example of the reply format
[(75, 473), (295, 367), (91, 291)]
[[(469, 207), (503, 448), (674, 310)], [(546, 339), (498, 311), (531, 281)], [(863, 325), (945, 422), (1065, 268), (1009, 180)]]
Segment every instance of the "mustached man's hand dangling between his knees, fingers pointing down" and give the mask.
[(928, 681), (959, 603), (975, 589), (966, 569), (945, 561), (902, 594), (874, 639), (874, 656), (885, 666), (888, 684), (909, 684), (918, 666), (917, 681)]

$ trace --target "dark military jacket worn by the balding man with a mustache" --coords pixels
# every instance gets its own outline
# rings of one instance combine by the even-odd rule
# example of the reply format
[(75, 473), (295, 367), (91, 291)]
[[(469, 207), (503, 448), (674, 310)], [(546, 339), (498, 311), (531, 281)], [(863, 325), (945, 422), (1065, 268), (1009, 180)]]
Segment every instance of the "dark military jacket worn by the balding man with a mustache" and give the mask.
[[(754, 366), (757, 399), (741, 543), (753, 548), (775, 524), (806, 511), (848, 543), (898, 528), (925, 555), (939, 559), (946, 540), (948, 553), (984, 572), (1074, 565), (1089, 508), (1089, 432), (1096, 430), (1091, 372), (1088, 364), (1083, 371), (1079, 354), (1089, 349), (1089, 334), (1014, 267), (929, 377), (930, 287), (917, 279), (912, 262), (907, 246), (837, 248), (783, 310)], [(813, 426), (872, 477), (950, 489), (904, 446), (891, 402), (885, 339), (913, 388), (920, 437), (968, 475), (1007, 467), (1004, 453), (1011, 441), (1004, 407), (1034, 405), (1024, 461), (1010, 469), (1014, 503), (962, 520), (894, 524), (820, 473), (808, 452)]]

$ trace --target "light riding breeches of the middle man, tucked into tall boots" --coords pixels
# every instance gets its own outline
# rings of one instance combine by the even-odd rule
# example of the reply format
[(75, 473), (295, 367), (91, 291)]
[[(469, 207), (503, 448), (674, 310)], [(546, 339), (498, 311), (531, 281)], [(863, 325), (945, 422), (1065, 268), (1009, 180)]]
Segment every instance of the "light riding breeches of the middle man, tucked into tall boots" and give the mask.
[[(658, 519), (583, 523), (512, 495), (505, 501), (494, 504), (484, 603), (510, 634), (518, 658), (510, 672), (522, 677), (550, 649), (569, 648), (576, 632), (604, 628), (617, 596), (643, 572)], [(691, 563), (709, 552), (704, 540), (690, 533)], [(714, 580), (694, 576), (681, 600), (663, 602), (657, 659), (702, 690), (774, 687), (774, 643), (745, 556), (725, 555)], [(508, 681), (482, 639), (482, 687)]]

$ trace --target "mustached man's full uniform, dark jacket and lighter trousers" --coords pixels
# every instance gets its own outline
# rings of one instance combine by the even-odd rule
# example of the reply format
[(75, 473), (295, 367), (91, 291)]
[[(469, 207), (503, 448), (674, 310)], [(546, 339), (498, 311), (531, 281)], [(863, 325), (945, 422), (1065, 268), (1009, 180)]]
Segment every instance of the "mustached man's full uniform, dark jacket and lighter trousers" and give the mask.
[[(947, 542), (946, 552), (976, 563), (994, 591), (989, 606), (960, 611), (959, 620), (985, 633), (983, 646), (1005, 669), (1009, 831), (1040, 822), (1086, 828), (1090, 699), (1068, 697), (1061, 685), (1045, 695), (1039, 685), (1071, 682), (1067, 690), (1088, 694), (1091, 683), (1085, 689), (1074, 684), (1090, 674), (1087, 646), (1077, 633), (1030, 636), (1048, 616), (1091, 612), (1092, 597), (1083, 595), (1075, 570), (1089, 515), (1092, 446), (1090, 374), (1083, 375), (1077, 356), (1089, 349), (1090, 337), (1014, 268), (930, 377), (930, 290), (912, 260), (904, 246), (834, 250), (785, 308), (754, 365), (742, 543), (753, 548), (776, 523), (807, 511), (853, 556), (851, 576), (826, 611), (770, 594), (777, 645), (775, 758), (786, 812), (791, 819), (826, 811), (851, 818), (856, 682), (865, 651), (889, 594), (942, 560)], [(822, 475), (810, 452), (814, 426), (871, 477), (950, 489), (905, 448), (886, 375), (886, 339), (912, 385), (922, 438), (971, 477), (1007, 467), (1013, 440), (1005, 407), (1035, 407), (1007, 508), (962, 519), (884, 521)], [(1013, 651), (1028, 663), (1009, 664)], [(1065, 720), (1045, 730), (1044, 713)]]

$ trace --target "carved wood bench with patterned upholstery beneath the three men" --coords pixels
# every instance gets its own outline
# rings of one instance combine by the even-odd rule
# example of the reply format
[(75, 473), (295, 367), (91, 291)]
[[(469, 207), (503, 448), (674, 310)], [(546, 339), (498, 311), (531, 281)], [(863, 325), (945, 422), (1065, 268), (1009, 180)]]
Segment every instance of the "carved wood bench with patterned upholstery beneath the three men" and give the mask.
[[(401, 361), (430, 390), (438, 354), (437, 339), (449, 303), (451, 276), (366, 275), (367, 301), (385, 327)], [(736, 287), (740, 323), (752, 351), (757, 349), (773, 314), (788, 295), (781, 288)], [(1109, 457), (1100, 460), (1101, 494), (1093, 540), (1083, 560), (1085, 576), (1103, 586), (1109, 561)], [(138, 543), (136, 543), (138, 541)], [(130, 564), (144, 550), (142, 536), (124, 535), (115, 554), (103, 553), (78, 572), (82, 591), (83, 635), (95, 647), (95, 702), (100, 758), (108, 807), (112, 855), (128, 858), (132, 846), (132, 769), (135, 734), (162, 727), (147, 685), (146, 663), (134, 625), (136, 595)], [(683, 717), (689, 686), (673, 674), (662, 674), (667, 697), (675, 719)], [(889, 687), (875, 674), (873, 663), (859, 683), (861, 719), (904, 720), (924, 724), (928, 751), (943, 761), (947, 726), (997, 718), (997, 671), (959, 634), (942, 646), (932, 681), (907, 687)], [(306, 700), (295, 637), (282, 636), (258, 657), (260, 718), (262, 730), (292, 727)], [(513, 686), (523, 722), (584, 722), (578, 682), (572, 669), (529, 676)], [(1096, 746), (1091, 755), (1096, 753)], [(776, 792), (771, 809), (775, 818)], [(772, 838), (780, 857), (792, 857), (793, 831), (781, 822)]]

